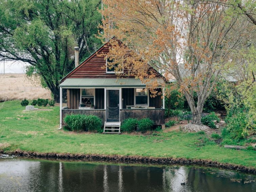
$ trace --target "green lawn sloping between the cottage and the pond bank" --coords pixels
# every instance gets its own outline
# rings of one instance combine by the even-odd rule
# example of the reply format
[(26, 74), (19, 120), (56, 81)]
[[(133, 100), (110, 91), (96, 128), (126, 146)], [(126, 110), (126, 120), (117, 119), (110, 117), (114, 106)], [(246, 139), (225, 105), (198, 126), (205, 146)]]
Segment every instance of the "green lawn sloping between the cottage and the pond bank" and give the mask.
[[(74, 133), (59, 128), (59, 107), (28, 111), (20, 101), (0, 103), (0, 148), (56, 153), (93, 153), (211, 159), (247, 167), (256, 166), (256, 151), (218, 146), (205, 134), (163, 132), (152, 135)], [(1, 147), (2, 146), (2, 147)]]

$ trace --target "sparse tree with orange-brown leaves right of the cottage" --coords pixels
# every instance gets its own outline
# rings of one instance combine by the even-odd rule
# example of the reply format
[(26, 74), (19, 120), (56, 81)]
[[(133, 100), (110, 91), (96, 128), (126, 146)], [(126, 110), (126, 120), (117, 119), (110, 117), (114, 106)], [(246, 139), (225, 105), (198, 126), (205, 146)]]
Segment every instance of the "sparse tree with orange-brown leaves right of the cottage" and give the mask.
[(214, 1), (103, 2), (102, 38), (115, 36), (125, 45), (122, 48), (112, 39), (108, 57), (122, 59), (142, 80), (154, 78), (148, 76), (149, 66), (161, 71), (167, 80), (174, 77), (192, 111), (192, 125), (187, 128), (206, 128), (201, 125), (204, 103), (230, 53), (248, 39), (249, 21)]

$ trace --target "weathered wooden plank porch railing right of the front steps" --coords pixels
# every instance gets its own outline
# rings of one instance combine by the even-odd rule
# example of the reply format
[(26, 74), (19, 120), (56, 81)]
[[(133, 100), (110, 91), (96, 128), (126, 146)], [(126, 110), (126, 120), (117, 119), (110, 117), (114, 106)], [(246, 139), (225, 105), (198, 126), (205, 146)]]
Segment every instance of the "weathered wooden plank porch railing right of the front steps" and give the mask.
[(150, 118), (155, 125), (165, 124), (165, 109), (120, 109), (120, 121), (128, 118)]

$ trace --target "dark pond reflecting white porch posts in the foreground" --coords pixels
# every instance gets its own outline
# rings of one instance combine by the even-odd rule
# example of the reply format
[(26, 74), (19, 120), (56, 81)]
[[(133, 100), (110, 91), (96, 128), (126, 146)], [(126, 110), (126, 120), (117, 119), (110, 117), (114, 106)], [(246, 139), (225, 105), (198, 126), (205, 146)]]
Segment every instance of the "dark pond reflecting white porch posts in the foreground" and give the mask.
[(199, 166), (0, 158), (0, 191), (249, 192), (256, 191), (255, 180), (253, 174)]

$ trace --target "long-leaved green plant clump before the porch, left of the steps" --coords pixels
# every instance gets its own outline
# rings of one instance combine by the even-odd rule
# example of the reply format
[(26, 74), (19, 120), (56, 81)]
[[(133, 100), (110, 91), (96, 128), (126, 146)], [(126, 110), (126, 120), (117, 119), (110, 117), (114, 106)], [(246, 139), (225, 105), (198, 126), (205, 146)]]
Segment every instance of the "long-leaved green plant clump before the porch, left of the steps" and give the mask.
[(71, 114), (66, 115), (64, 122), (72, 131), (100, 131), (102, 121), (95, 115)]

